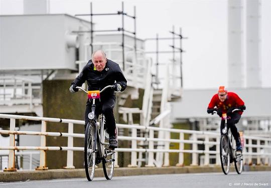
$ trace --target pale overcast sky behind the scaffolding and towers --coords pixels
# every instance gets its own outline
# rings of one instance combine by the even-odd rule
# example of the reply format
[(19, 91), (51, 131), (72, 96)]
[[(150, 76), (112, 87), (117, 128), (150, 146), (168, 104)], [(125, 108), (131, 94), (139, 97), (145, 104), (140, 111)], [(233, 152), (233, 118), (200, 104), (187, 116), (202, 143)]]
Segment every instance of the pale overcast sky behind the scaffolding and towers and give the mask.
[[(22, 0), (0, 1), (0, 14), (23, 14)], [(50, 13), (89, 14), (89, 2), (51, 0)], [(121, 11), (121, 1), (92, 2), (93, 13)], [(262, 23), (270, 22), (270, 7), (266, 9), (270, 2), (263, 0), (262, 5), (265, 6)], [(176, 32), (182, 27), (183, 36), (188, 37), (183, 40), (184, 88), (227, 86), (227, 1), (124, 1), (124, 11), (129, 15), (133, 15), (133, 6), (137, 7), (139, 38), (154, 38), (157, 33), (161, 37), (171, 37), (168, 32), (173, 25)], [(120, 27), (120, 18), (95, 18), (94, 23), (97, 23), (96, 29), (116, 29)], [(129, 19), (125, 19), (125, 25), (128, 30), (133, 29), (133, 22)], [(263, 25), (262, 31), (270, 31), (270, 24), (267, 27), (265, 30)], [(264, 35), (271, 34), (265, 32)], [(267, 45), (270, 45), (270, 37), (267, 39)], [(167, 61), (167, 58), (161, 59)], [(261, 75), (264, 87), (271, 87), (270, 64), (270, 57), (263, 56)]]

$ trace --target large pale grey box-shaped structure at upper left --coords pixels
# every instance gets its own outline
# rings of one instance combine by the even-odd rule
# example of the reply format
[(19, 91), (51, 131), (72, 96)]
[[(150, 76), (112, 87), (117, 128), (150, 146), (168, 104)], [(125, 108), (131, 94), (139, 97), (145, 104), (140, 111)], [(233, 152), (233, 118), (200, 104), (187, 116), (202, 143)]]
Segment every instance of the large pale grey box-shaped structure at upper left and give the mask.
[(0, 70), (76, 70), (87, 21), (69, 15), (0, 16)]

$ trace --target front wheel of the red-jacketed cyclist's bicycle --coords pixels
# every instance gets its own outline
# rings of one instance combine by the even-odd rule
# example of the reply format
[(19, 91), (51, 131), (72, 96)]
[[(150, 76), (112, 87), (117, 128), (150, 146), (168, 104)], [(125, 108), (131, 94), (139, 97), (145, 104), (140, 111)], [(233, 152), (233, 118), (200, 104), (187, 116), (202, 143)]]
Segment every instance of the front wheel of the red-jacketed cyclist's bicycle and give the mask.
[(230, 168), (230, 153), (228, 146), (228, 137), (225, 135), (222, 135), (220, 138), (220, 161), (224, 174), (228, 174)]

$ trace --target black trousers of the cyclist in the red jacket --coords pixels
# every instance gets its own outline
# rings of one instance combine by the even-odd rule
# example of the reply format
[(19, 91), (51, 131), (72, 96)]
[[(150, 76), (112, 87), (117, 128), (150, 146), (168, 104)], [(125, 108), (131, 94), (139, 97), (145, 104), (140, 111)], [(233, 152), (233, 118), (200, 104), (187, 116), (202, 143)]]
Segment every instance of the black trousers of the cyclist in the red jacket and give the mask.
[[(238, 123), (239, 119), (241, 118), (241, 115), (238, 112), (233, 112), (232, 114), (229, 114), (228, 116), (230, 116), (230, 119), (227, 119), (228, 128), (230, 128), (230, 131), (235, 141), (239, 141), (239, 133), (237, 131), (235, 123)], [(220, 124), (221, 134), (222, 134), (222, 129), (224, 127), (225, 127), (225, 120), (221, 120), (221, 124)]]

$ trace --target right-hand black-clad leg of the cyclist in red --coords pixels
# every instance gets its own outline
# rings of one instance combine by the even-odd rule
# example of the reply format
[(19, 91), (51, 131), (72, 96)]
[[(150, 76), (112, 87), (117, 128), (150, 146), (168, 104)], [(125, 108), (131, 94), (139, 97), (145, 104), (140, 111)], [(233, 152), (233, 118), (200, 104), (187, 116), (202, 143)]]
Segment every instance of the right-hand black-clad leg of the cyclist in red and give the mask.
[(240, 135), (239, 135), (237, 127), (235, 125), (235, 123), (238, 123), (239, 119), (241, 118), (241, 115), (238, 112), (234, 112), (230, 117), (231, 118), (228, 120), (228, 125), (229, 125), (230, 131), (235, 139), (236, 149), (242, 150)]

